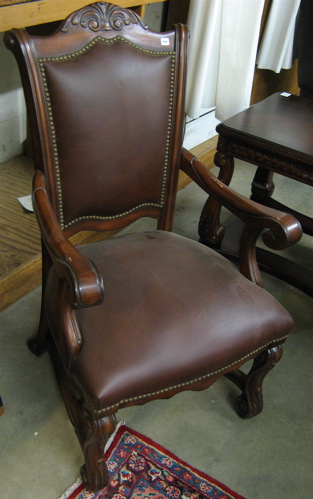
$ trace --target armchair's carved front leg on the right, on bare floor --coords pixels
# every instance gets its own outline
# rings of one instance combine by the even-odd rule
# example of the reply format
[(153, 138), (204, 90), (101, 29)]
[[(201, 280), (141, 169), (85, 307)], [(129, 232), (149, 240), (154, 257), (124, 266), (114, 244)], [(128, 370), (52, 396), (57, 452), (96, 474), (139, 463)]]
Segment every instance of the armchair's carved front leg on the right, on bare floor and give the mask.
[(242, 418), (252, 418), (262, 411), (263, 380), (280, 360), (282, 353), (283, 348), (281, 345), (269, 348), (254, 359), (248, 374), (244, 374), (238, 369), (225, 375), (242, 390), (242, 394), (236, 401), (237, 412)]

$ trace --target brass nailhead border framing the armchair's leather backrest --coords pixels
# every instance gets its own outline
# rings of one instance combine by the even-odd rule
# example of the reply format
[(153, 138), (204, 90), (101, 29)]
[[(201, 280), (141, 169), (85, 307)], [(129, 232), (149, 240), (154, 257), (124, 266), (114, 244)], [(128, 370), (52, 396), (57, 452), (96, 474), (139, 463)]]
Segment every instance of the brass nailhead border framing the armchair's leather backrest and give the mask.
[[(53, 120), (51, 99), (50, 99), (47, 78), (46, 78), (46, 73), (45, 73), (45, 63), (47, 63), (47, 62), (60, 63), (60, 62), (64, 62), (64, 61), (70, 61), (70, 60), (74, 59), (75, 57), (79, 57), (80, 55), (82, 55), (85, 52), (87, 52), (88, 50), (90, 50), (97, 42), (105, 43), (107, 45), (113, 45), (116, 42), (123, 42), (126, 45), (129, 45), (130, 47), (138, 50), (139, 52), (143, 52), (143, 53), (148, 54), (148, 55), (152, 55), (152, 56), (156, 56), (156, 57), (171, 56), (172, 61), (171, 61), (171, 75), (170, 75), (168, 126), (167, 126), (166, 150), (165, 150), (163, 182), (162, 182), (160, 203), (159, 204), (157, 204), (157, 203), (142, 203), (142, 204), (132, 208), (131, 210), (125, 211), (124, 213), (121, 213), (118, 215), (103, 216), (103, 217), (102, 216), (93, 216), (93, 215), (83, 216), (83, 217), (76, 218), (75, 220), (72, 220), (71, 222), (69, 222), (67, 224), (64, 224), (60, 164), (59, 164), (56, 131), (55, 131), (55, 125), (54, 125), (54, 120)], [(49, 124), (50, 124), (50, 133), (51, 133), (51, 137), (52, 137), (53, 159), (54, 159), (55, 170), (56, 170), (56, 183), (57, 183), (57, 190), (58, 190), (58, 205), (59, 205), (59, 213), (60, 213), (60, 224), (61, 224), (62, 229), (66, 229), (66, 228), (70, 227), (71, 225), (73, 225), (76, 222), (81, 221), (81, 220), (115, 220), (117, 218), (122, 218), (123, 216), (127, 216), (127, 215), (137, 211), (138, 209), (146, 207), (146, 206), (151, 206), (154, 208), (155, 207), (162, 208), (163, 203), (164, 203), (164, 196), (165, 196), (165, 186), (166, 186), (167, 170), (168, 170), (168, 164), (169, 164), (170, 135), (171, 135), (171, 129), (172, 129), (173, 101), (174, 101), (173, 96), (174, 96), (174, 81), (175, 81), (175, 52), (173, 52), (173, 51), (165, 52), (165, 51), (144, 49), (142, 47), (135, 45), (134, 43), (130, 42), (129, 40), (126, 40), (122, 36), (115, 36), (114, 38), (111, 38), (109, 40), (104, 39), (101, 36), (97, 36), (91, 42), (87, 43), (84, 47), (82, 47), (81, 49), (79, 49), (75, 52), (72, 52), (69, 54), (64, 54), (64, 55), (61, 55), (58, 57), (40, 58), (40, 59), (38, 59), (38, 64), (39, 64), (39, 70), (41, 73), (42, 84), (44, 87), (44, 96), (45, 96), (47, 112), (48, 112), (48, 119), (49, 119)]]

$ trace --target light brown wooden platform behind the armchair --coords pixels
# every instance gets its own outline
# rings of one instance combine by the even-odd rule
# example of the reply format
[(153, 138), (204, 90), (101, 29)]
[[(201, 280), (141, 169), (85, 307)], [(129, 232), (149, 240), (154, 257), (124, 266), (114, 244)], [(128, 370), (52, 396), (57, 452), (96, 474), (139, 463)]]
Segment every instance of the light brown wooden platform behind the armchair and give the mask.
[[(209, 168), (213, 166), (216, 137), (192, 152)], [(22, 208), (17, 198), (31, 193), (33, 162), (17, 156), (0, 164), (0, 311), (19, 300), (41, 283), (40, 235), (34, 213)], [(179, 178), (179, 189), (188, 183)], [(94, 239), (84, 233), (77, 242)]]

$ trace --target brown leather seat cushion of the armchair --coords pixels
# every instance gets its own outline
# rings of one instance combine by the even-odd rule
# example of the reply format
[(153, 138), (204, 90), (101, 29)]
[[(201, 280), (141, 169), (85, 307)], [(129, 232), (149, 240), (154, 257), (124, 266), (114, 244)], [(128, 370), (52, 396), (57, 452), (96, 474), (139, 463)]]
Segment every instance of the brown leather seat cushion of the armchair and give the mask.
[[(81, 246), (104, 302), (77, 310), (83, 346), (72, 376), (95, 410), (228, 368), (292, 327), (265, 290), (204, 245), (164, 231)], [(55, 277), (47, 286), (50, 325)]]

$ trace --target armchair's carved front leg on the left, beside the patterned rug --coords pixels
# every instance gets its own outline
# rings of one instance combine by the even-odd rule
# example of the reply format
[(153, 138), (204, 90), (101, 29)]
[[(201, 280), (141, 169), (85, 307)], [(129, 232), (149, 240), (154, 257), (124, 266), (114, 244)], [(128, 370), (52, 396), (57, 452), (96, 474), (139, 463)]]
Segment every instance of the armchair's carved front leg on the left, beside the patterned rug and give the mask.
[(105, 445), (116, 428), (115, 414), (96, 420), (84, 409), (87, 436), (83, 444), (85, 464), (81, 477), (87, 489), (96, 492), (106, 487), (109, 473), (104, 457)]

